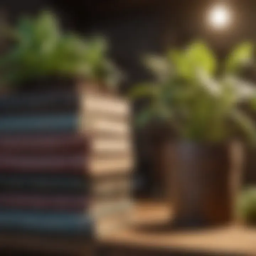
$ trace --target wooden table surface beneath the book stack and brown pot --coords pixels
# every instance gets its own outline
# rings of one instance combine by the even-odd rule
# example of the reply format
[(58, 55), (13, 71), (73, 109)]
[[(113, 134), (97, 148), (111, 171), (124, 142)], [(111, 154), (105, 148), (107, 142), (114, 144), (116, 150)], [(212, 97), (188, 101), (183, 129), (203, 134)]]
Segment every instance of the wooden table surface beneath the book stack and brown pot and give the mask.
[(62, 256), (256, 256), (256, 229), (235, 225), (194, 231), (156, 229), (171, 216), (169, 207), (163, 203), (138, 203), (129, 225), (89, 243), (5, 234), (0, 235), (0, 249)]

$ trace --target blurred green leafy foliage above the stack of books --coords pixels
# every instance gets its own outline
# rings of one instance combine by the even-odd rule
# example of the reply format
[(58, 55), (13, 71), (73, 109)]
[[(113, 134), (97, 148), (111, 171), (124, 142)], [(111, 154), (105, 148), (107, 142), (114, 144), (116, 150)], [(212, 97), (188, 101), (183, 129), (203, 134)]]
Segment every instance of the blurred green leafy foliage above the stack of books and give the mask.
[(64, 33), (57, 17), (49, 11), (35, 18), (20, 18), (7, 34), (12, 35), (14, 43), (0, 58), (1, 79), (5, 84), (62, 76), (116, 86), (121, 78), (107, 58), (103, 38), (85, 39), (75, 33)]

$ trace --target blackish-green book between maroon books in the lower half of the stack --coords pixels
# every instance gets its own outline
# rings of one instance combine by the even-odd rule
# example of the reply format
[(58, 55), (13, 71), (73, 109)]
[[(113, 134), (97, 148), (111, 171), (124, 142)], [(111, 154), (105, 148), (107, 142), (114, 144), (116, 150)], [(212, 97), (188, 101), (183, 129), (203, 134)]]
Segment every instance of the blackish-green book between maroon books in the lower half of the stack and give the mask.
[(0, 192), (85, 194), (91, 191), (93, 194), (109, 196), (117, 191), (123, 193), (144, 186), (141, 177), (121, 174), (89, 178), (83, 174), (1, 173)]

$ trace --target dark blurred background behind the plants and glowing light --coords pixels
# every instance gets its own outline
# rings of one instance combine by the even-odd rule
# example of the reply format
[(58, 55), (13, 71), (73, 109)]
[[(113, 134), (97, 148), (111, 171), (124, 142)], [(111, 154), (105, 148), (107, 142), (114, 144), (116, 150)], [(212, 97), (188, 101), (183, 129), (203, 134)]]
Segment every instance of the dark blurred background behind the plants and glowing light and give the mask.
[[(230, 28), (222, 32), (210, 30), (205, 17), (217, 2), (228, 2), (233, 13)], [(141, 63), (146, 53), (164, 53), (171, 46), (204, 39), (223, 58), (241, 41), (256, 42), (255, 0), (0, 0), (1, 18), (10, 22), (45, 8), (53, 10), (67, 30), (108, 38), (111, 57), (127, 75), (123, 92), (149, 78)], [(161, 175), (155, 174), (158, 165), (148, 153), (150, 140), (146, 134), (138, 132), (136, 136), (138, 174), (144, 180), (142, 193), (154, 194), (161, 187)]]

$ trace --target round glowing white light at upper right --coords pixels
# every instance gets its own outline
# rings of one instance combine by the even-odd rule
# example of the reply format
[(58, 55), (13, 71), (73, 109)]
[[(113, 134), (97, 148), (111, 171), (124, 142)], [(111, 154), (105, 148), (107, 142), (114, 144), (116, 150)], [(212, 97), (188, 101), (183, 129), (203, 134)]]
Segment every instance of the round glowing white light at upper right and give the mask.
[(208, 18), (212, 27), (223, 29), (230, 25), (231, 13), (228, 6), (224, 4), (218, 4), (210, 9)]

